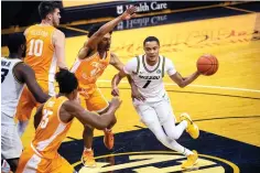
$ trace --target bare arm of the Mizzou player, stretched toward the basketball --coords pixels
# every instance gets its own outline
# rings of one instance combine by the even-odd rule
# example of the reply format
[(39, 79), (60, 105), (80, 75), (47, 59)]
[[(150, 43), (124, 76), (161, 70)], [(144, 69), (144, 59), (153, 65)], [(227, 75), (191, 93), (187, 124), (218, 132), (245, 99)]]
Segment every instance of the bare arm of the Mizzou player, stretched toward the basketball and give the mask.
[(171, 75), (171, 79), (173, 82), (175, 82), (181, 88), (184, 88), (185, 86), (187, 86), (188, 84), (193, 83), (198, 76), (199, 76), (199, 72), (195, 72), (193, 73), (191, 76), (188, 77), (182, 77), (182, 75), (180, 73), (175, 73), (174, 75)]

